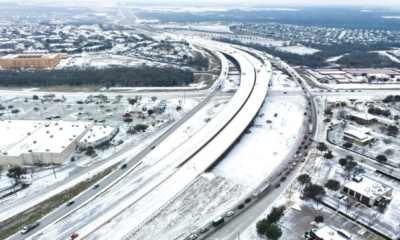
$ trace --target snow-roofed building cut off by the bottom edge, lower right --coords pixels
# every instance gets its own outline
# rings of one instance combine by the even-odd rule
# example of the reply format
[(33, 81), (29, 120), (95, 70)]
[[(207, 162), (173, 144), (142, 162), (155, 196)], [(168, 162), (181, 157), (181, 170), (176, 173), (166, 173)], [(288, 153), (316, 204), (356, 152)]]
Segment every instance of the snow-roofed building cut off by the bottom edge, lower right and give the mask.
[(310, 230), (310, 239), (313, 239), (313, 240), (348, 240), (348, 239), (352, 239), (352, 235), (343, 229), (336, 229), (329, 225), (323, 224), (319, 228)]

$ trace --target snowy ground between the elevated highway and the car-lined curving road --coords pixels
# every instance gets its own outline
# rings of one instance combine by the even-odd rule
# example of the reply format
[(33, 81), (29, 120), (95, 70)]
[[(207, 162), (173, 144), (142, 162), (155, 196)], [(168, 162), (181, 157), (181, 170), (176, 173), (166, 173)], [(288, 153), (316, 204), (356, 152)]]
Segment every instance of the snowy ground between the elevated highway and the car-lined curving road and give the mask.
[[(301, 97), (267, 98), (259, 112), (259, 116), (264, 115), (256, 118), (251, 133), (245, 134), (211, 172), (198, 177), (171, 206), (139, 230), (135, 239), (182, 238), (252, 192), (280, 165), (279, 160), (286, 157), (286, 149), (293, 146), (302, 125), (301, 121), (290, 122), (289, 119), (301, 119), (303, 112)], [(273, 117), (275, 113), (278, 113), (277, 118)], [(272, 123), (266, 123), (267, 120)], [(265, 148), (271, 145), (275, 147)], [(132, 217), (126, 216), (124, 222), (130, 222)]]

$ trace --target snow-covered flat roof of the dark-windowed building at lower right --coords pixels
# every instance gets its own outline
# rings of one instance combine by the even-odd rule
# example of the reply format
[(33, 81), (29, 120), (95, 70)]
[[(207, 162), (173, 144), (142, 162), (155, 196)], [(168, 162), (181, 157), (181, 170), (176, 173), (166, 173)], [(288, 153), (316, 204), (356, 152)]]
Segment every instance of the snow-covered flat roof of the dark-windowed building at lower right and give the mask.
[(378, 182), (365, 175), (362, 175), (360, 179), (361, 181), (359, 182), (350, 181), (346, 183), (344, 187), (360, 193), (363, 196), (367, 196), (370, 199), (379, 198), (392, 189), (388, 185)]

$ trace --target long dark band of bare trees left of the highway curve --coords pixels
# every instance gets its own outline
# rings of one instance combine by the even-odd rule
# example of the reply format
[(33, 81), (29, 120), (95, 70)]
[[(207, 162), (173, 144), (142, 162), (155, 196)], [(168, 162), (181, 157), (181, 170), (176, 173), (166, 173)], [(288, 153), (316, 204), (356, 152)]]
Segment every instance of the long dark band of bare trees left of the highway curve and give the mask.
[(189, 70), (157, 67), (64, 68), (0, 71), (2, 87), (104, 86), (172, 87), (194, 81)]

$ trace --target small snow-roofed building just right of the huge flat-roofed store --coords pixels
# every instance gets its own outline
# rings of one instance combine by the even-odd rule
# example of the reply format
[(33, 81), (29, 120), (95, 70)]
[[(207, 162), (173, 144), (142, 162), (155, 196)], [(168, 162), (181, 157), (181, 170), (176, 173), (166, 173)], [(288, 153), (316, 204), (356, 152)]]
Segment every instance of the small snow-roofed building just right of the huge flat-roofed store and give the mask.
[(110, 142), (118, 133), (117, 127), (94, 125), (78, 142), (81, 149), (96, 148)]

